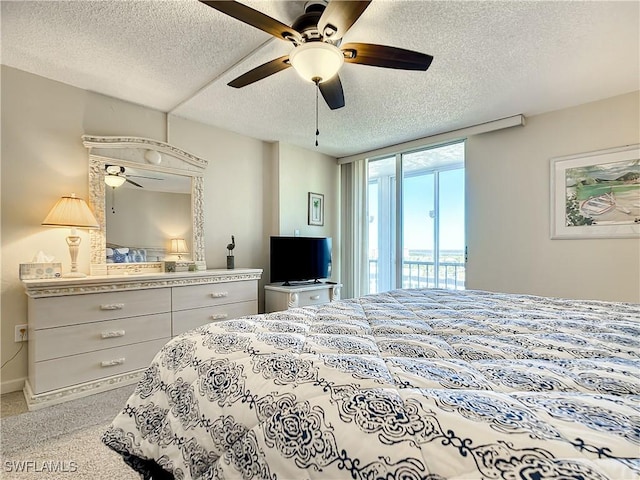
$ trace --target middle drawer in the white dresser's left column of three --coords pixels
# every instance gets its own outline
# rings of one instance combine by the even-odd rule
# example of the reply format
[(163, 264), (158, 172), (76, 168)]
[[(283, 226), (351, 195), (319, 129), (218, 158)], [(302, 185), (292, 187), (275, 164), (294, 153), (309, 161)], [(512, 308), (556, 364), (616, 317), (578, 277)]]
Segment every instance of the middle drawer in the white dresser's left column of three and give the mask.
[(34, 330), (29, 354), (36, 362), (171, 336), (171, 313)]

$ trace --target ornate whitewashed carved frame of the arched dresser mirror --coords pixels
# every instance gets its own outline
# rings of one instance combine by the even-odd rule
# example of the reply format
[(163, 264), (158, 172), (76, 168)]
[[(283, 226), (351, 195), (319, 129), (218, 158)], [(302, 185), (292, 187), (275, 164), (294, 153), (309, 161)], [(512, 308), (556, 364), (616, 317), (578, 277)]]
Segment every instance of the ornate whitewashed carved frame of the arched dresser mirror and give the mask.
[(83, 135), (82, 143), (89, 150), (89, 203), (100, 224), (100, 228), (89, 232), (91, 275), (163, 271), (162, 262), (147, 264), (106, 263), (107, 223), (104, 175), (105, 164), (111, 163), (191, 177), (193, 260), (198, 269), (205, 269), (203, 175), (208, 162), (167, 143), (147, 138)]

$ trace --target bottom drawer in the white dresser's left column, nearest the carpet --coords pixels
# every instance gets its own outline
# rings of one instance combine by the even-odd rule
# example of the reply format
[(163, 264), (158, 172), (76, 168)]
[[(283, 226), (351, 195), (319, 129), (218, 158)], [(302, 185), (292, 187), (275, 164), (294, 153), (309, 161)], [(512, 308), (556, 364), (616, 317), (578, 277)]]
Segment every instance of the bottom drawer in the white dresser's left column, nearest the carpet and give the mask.
[(38, 394), (146, 368), (169, 337), (36, 362), (29, 381)]

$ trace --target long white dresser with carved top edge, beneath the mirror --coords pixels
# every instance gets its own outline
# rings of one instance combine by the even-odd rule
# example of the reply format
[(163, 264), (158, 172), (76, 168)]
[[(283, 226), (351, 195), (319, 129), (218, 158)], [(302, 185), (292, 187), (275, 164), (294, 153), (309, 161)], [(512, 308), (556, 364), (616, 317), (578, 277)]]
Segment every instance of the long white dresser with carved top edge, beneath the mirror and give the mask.
[(260, 269), (25, 280), (30, 410), (135, 383), (172, 337), (258, 313)]

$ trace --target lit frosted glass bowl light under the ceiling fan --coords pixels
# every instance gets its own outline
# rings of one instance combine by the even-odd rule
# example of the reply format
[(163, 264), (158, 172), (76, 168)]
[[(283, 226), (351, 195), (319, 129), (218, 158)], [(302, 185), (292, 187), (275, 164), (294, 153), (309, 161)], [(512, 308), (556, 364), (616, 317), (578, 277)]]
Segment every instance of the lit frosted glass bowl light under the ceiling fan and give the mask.
[(293, 49), (289, 62), (304, 80), (319, 83), (330, 80), (344, 63), (342, 51), (325, 42), (308, 42)]

